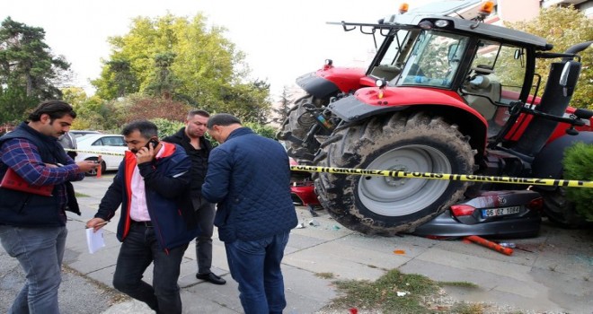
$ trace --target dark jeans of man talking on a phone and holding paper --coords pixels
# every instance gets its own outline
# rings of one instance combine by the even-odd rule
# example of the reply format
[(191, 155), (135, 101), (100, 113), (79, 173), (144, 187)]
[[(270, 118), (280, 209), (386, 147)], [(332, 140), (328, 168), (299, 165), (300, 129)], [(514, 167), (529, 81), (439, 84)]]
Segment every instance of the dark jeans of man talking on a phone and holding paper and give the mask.
[[(181, 259), (188, 244), (161, 249), (155, 230), (132, 224), (128, 236), (119, 249), (118, 263), (113, 275), (113, 286), (130, 297), (143, 301), (157, 313), (181, 313), (181, 296), (177, 279)], [(142, 280), (146, 267), (154, 263), (153, 285)]]

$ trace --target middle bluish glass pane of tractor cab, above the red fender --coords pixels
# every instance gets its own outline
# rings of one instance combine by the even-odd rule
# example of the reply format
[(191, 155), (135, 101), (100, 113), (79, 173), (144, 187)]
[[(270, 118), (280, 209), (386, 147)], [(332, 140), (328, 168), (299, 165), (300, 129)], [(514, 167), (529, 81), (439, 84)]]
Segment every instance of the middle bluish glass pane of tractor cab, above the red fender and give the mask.
[(398, 85), (450, 88), (467, 46), (465, 36), (423, 31), (403, 68)]

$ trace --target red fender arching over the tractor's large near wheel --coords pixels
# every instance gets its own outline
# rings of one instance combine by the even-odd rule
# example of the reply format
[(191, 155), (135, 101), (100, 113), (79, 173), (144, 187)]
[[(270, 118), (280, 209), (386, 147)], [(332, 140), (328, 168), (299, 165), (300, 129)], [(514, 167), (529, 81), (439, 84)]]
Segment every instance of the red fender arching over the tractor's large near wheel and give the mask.
[[(328, 109), (347, 123), (391, 114), (397, 111), (425, 111), (456, 125), (482, 156), (488, 123), (475, 109), (467, 106), (456, 92), (401, 87), (392, 95), (376, 98), (376, 88), (362, 88), (354, 95), (330, 103)], [(387, 93), (387, 92), (385, 92)]]

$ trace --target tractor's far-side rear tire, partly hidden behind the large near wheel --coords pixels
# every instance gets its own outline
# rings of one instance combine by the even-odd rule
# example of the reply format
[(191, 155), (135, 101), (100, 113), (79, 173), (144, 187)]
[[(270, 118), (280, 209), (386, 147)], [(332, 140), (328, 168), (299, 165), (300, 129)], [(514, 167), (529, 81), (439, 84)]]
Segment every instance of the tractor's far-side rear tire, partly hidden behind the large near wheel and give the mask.
[[(319, 99), (307, 93), (295, 100), (295, 106), (288, 111), (278, 137), (286, 144), (288, 155), (298, 161), (299, 164), (311, 163), (314, 154), (319, 150), (319, 143), (314, 138), (305, 144), (301, 143), (305, 140), (311, 127), (316, 123), (315, 118), (307, 113), (305, 106), (313, 105), (316, 108), (321, 108), (329, 102), (329, 98)], [(297, 139), (288, 135), (292, 135)]]

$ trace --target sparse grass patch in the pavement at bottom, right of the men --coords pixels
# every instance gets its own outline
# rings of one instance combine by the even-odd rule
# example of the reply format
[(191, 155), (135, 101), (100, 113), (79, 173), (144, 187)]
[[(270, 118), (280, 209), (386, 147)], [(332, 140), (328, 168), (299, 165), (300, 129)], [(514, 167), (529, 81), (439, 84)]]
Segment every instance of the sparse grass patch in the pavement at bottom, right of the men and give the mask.
[[(438, 283), (426, 276), (405, 275), (397, 269), (390, 270), (374, 283), (347, 280), (335, 284), (343, 295), (334, 299), (328, 310), (357, 308), (385, 313), (428, 313), (430, 310), (423, 304), (425, 297), (440, 290)], [(407, 294), (398, 296), (397, 292)]]

